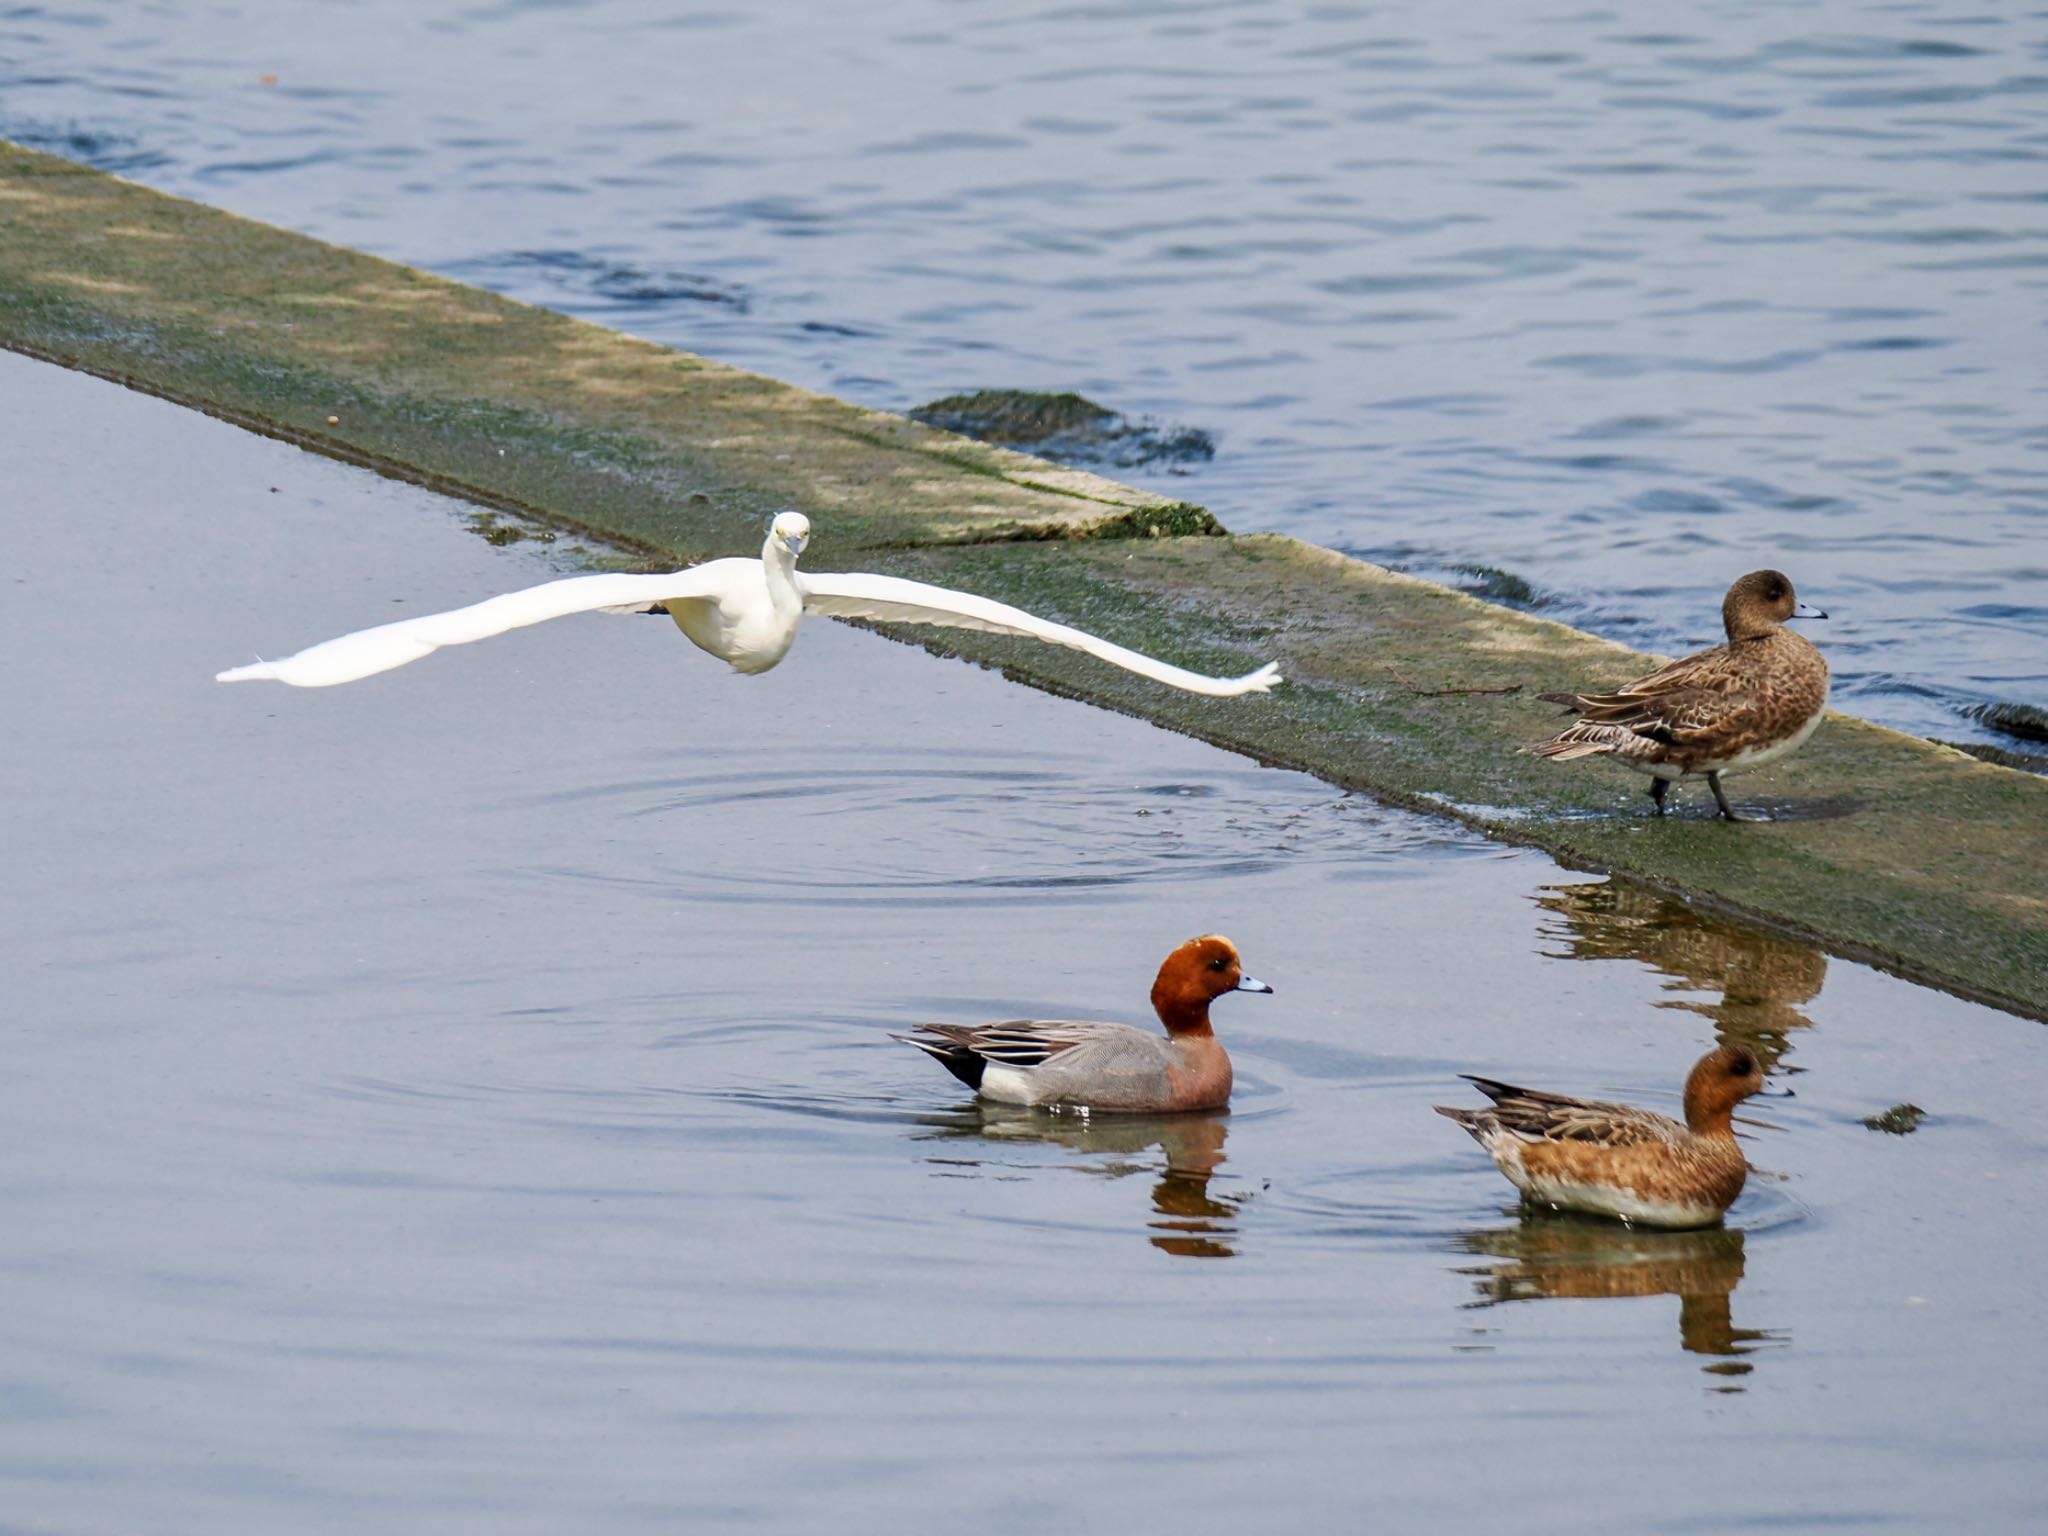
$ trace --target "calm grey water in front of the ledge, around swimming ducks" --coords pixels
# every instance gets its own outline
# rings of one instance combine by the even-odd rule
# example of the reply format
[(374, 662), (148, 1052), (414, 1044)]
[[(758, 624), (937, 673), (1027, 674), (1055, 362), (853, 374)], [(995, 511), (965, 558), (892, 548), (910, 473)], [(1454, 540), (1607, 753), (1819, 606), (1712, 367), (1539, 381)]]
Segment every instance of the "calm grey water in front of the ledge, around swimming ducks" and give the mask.
[[(0, 354), (0, 1526), (2040, 1530), (2048, 1032), (829, 623), (215, 668), (541, 578)], [(1145, 1018), (1227, 1116), (887, 1032)], [(1798, 1098), (1722, 1233), (1520, 1223), (1456, 1071)], [(1907, 1100), (1917, 1135), (1866, 1130)]]

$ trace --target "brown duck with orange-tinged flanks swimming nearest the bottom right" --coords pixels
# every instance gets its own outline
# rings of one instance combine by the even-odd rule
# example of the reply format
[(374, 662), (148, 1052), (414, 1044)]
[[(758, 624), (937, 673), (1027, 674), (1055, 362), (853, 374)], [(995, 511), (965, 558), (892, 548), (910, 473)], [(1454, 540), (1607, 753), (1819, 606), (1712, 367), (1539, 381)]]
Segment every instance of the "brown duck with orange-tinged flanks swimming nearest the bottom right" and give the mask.
[[(1530, 1200), (1620, 1217), (1645, 1227), (1712, 1227), (1735, 1204), (1749, 1159), (1735, 1141), (1735, 1106), (1763, 1090), (1763, 1065), (1743, 1044), (1708, 1051), (1686, 1075), (1686, 1124), (1626, 1104), (1595, 1104), (1491, 1077), (1466, 1081), (1491, 1110), (1450, 1116)], [(1778, 1090), (1790, 1098), (1792, 1090)]]

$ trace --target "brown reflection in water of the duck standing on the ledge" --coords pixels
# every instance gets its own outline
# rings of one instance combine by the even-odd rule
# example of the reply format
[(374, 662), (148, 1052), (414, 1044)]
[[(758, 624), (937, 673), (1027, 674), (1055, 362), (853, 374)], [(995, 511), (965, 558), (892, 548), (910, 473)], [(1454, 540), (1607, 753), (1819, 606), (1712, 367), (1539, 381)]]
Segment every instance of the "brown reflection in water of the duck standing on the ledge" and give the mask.
[(1667, 991), (1718, 991), (1720, 1001), (1673, 997), (1679, 1008), (1714, 1020), (1720, 1044), (1747, 1044), (1776, 1067), (1786, 1034), (1812, 1020), (1802, 1012), (1827, 981), (1827, 954), (1796, 938), (1696, 911), (1655, 891), (1622, 881), (1546, 885), (1536, 905), (1554, 958), (1636, 961), (1673, 979)]

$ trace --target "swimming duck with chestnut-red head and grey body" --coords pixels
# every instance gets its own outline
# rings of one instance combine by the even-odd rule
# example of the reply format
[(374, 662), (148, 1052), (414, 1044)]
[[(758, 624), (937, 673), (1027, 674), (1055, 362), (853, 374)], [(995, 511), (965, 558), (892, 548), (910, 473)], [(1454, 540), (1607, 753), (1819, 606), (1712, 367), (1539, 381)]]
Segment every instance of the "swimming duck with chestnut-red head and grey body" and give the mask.
[(997, 1104), (1071, 1106), (1126, 1114), (1212, 1110), (1231, 1098), (1231, 1059), (1208, 1028), (1227, 991), (1272, 991), (1221, 934), (1190, 938), (1165, 956), (1153, 1010), (1165, 1034), (1130, 1024), (1020, 1018), (1004, 1024), (920, 1024), (897, 1034)]

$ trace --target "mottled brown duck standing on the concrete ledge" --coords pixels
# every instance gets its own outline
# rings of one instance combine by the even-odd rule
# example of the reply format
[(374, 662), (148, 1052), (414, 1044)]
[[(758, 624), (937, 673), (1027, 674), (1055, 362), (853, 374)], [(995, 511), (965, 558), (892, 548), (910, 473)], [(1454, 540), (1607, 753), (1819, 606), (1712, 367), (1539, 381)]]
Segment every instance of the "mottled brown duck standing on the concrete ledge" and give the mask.
[(1542, 694), (1579, 713), (1538, 758), (1608, 754), (1651, 776), (1663, 815), (1677, 778), (1706, 778), (1729, 821), (1737, 815), (1722, 774), (1761, 768), (1804, 745), (1827, 709), (1827, 662), (1786, 618), (1827, 618), (1792, 592), (1782, 571), (1751, 571), (1720, 604), (1726, 645), (1696, 651), (1612, 694)]

